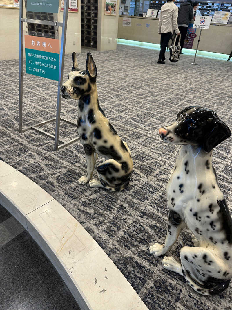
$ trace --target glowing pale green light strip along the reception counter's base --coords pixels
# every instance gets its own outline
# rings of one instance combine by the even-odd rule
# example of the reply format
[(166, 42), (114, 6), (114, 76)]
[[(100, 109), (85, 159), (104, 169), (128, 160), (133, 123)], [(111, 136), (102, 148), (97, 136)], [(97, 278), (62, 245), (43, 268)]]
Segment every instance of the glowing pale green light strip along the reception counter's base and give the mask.
[[(117, 42), (118, 44), (126, 44), (130, 46), (139, 46), (139, 47), (151, 48), (153, 50), (160, 50), (160, 44), (132, 41), (132, 40), (126, 40), (126, 39), (118, 39)], [(196, 50), (189, 50), (187, 48), (183, 48), (183, 53), (186, 55), (195, 55)], [(226, 55), (226, 54), (219, 54), (219, 53), (206, 52), (206, 51), (197, 51), (197, 56), (227, 60), (229, 57), (229, 54)]]

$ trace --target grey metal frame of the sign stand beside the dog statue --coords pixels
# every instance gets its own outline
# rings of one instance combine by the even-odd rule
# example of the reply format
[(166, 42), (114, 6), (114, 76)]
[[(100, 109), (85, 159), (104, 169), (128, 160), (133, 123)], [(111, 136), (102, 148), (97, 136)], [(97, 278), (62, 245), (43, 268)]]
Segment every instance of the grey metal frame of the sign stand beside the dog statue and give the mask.
[[(28, 18), (23, 18), (23, 0), (19, 0), (19, 132), (22, 133), (29, 129), (34, 129), (39, 131), (40, 133), (52, 138), (55, 140), (55, 147), (54, 150), (59, 148), (63, 148), (79, 138), (74, 138), (70, 141), (64, 141), (63, 139), (59, 139), (59, 127), (60, 127), (60, 120), (63, 122), (67, 122), (68, 124), (76, 126), (76, 122), (68, 121), (64, 118), (60, 117), (60, 110), (61, 110), (61, 95), (60, 95), (60, 86), (62, 85), (62, 78), (63, 78), (63, 69), (64, 69), (64, 53), (65, 53), (65, 42), (66, 42), (66, 32), (67, 32), (67, 19), (68, 19), (68, 4), (69, 1), (64, 1), (64, 11), (63, 11), (63, 22), (58, 23), (56, 21), (49, 21), (49, 20), (32, 20)], [(57, 93), (57, 110), (56, 110), (56, 117), (51, 118), (47, 121), (43, 121), (37, 123), (32, 126), (28, 126), (23, 128), (23, 25), (24, 23), (31, 23), (31, 24), (44, 24), (44, 25), (53, 25), (53, 26), (60, 26), (62, 27), (62, 38), (61, 38), (61, 52), (60, 52), (60, 67), (59, 67), (59, 82), (58, 82), (58, 93)], [(41, 125), (53, 122), (56, 120), (56, 131), (55, 136), (47, 133), (46, 131), (41, 130), (38, 128)], [(58, 146), (58, 143), (62, 143)]]

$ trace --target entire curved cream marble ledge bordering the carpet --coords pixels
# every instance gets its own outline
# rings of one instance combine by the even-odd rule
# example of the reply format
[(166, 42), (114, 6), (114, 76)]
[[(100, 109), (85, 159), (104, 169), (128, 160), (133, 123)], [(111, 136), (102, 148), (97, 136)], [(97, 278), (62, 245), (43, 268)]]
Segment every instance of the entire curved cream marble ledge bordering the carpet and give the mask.
[(81, 309), (148, 309), (79, 222), (41, 187), (1, 160), (0, 203), (45, 252)]

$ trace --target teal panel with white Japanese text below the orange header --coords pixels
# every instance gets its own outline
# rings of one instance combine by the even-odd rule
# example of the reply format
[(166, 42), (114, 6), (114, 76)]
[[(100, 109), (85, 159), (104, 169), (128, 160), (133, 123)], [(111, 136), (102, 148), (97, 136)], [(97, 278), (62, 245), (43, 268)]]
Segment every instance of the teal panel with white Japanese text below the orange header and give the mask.
[(25, 48), (25, 53), (27, 73), (50, 80), (59, 80), (59, 54), (30, 48)]

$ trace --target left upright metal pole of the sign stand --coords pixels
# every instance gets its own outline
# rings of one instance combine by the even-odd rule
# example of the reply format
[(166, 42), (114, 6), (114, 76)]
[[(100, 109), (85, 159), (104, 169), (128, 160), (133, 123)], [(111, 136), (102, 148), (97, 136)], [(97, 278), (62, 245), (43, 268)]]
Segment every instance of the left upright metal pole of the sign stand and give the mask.
[(23, 128), (23, 0), (19, 1), (19, 132)]

